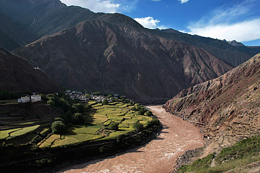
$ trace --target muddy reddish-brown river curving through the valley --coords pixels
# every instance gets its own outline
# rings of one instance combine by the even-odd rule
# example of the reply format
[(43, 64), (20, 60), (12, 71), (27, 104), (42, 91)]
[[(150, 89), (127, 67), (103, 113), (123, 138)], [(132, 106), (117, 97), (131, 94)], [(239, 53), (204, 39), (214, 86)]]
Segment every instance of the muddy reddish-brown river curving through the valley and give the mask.
[(112, 157), (65, 167), (59, 173), (168, 173), (184, 150), (203, 146), (197, 127), (166, 113), (161, 106), (149, 108), (163, 125), (156, 139)]

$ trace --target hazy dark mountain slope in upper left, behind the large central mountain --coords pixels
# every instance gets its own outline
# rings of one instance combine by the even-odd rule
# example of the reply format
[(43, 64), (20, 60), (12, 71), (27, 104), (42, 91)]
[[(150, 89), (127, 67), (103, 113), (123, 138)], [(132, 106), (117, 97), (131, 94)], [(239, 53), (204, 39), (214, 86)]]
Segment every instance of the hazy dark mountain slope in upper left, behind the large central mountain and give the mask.
[(13, 35), (8, 33), (8, 27), (4, 27), (7, 35), (13, 36), (11, 41), (16, 42), (9, 45), (3, 38), (1, 45), (8, 50), (21, 47), (16, 41), (16, 35), (21, 32), (26, 36), (22, 44), (26, 45), (102, 14), (79, 6), (66, 6), (59, 0), (0, 0), (0, 13), (9, 17), (12, 27), (17, 28), (17, 34)]

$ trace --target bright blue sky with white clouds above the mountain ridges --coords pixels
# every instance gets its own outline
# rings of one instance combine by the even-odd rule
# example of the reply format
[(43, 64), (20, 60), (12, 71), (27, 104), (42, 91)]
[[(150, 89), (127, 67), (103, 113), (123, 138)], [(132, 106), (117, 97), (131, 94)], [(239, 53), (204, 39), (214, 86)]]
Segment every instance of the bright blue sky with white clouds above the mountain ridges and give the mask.
[(119, 12), (150, 29), (260, 45), (260, 0), (61, 0), (94, 12)]

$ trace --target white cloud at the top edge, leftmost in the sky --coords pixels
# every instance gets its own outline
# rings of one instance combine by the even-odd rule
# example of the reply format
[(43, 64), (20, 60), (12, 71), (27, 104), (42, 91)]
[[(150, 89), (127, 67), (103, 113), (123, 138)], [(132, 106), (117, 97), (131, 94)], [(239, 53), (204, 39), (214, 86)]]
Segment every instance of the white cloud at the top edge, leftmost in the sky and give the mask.
[(114, 3), (113, 0), (61, 0), (66, 5), (78, 5), (88, 8), (94, 12), (115, 13), (120, 12), (121, 4)]

